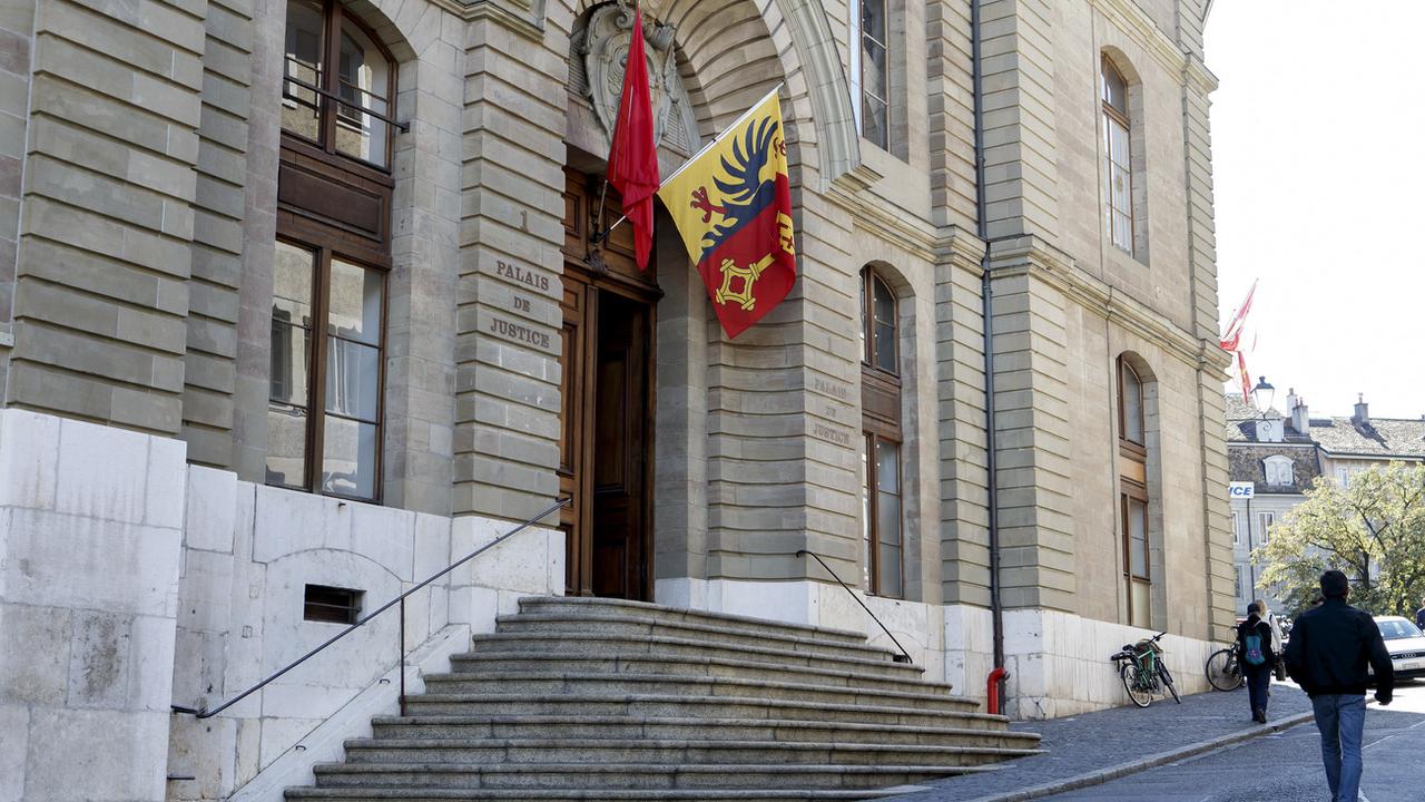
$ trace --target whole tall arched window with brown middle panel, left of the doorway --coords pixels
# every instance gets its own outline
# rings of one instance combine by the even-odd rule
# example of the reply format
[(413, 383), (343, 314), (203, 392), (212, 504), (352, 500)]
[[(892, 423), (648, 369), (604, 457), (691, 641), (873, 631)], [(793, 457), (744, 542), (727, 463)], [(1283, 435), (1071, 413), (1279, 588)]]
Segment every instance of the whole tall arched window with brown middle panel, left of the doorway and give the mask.
[(396, 68), (335, 0), (285, 40), (266, 482), (376, 501)]

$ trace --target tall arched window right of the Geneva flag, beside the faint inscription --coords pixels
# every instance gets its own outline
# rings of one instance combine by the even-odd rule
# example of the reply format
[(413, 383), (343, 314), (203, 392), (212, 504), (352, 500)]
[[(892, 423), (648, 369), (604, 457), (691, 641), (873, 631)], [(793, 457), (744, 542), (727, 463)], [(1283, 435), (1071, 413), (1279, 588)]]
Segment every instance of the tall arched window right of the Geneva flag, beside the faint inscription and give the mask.
[(866, 591), (905, 594), (899, 321), (891, 285), (861, 271), (861, 511)]

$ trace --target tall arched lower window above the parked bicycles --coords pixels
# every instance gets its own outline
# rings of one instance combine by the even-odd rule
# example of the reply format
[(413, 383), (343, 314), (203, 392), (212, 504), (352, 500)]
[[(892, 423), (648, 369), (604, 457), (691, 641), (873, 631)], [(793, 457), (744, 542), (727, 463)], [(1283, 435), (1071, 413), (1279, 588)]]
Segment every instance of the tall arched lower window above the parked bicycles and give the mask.
[(1153, 549), (1149, 538), (1149, 452), (1144, 438), (1143, 380), (1119, 358), (1119, 514), (1123, 519), (1123, 581), (1129, 624), (1151, 626)]

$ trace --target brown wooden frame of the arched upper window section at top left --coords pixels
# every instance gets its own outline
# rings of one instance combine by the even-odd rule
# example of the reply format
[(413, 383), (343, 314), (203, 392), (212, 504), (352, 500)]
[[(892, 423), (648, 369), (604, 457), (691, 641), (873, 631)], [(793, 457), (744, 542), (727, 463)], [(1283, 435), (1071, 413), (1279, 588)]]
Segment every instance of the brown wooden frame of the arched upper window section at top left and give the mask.
[[(351, 21), (358, 30), (366, 34), (366, 39), (376, 46), (376, 51), (382, 59), (386, 60), (386, 114), (385, 117), (395, 118), (396, 107), (396, 90), (398, 90), (398, 61), (390, 54), (390, 49), (386, 43), (380, 40), (376, 31), (365, 23), (359, 16), (348, 13), (341, 0), (318, 0), (322, 7), (322, 76), (318, 84), (323, 93), (331, 93), (331, 96), (318, 93), (318, 100), (315, 101), (316, 116), (318, 116), (318, 131), (319, 137), (316, 140), (305, 137), (285, 124), (281, 118), (278, 127), (282, 131), (282, 144), (288, 147), (299, 148), (316, 158), (323, 161), (332, 160), (351, 160), (368, 170), (378, 171), (385, 176), (392, 174), (392, 156), (395, 153), (395, 130), (399, 130), (395, 123), (388, 123), (385, 120), (376, 120), (376, 123), (386, 126), (386, 141), (385, 141), (385, 160), (382, 163), (370, 161), (359, 156), (352, 156), (349, 153), (336, 148), (336, 126), (339, 124), (341, 108), (346, 107), (345, 103), (335, 100), (332, 96), (341, 96), (341, 49), (342, 49), (342, 23)], [(285, 24), (285, 20), (284, 20)], [(285, 33), (285, 31), (284, 31)], [(309, 107), (304, 98), (294, 97), (288, 93), (288, 83), (292, 80), (288, 77), (286, 70), (286, 44), (284, 41), (282, 53), (282, 96), (281, 103), (286, 106), (288, 103), (295, 103), (301, 107)], [(369, 114), (365, 108), (362, 113)]]

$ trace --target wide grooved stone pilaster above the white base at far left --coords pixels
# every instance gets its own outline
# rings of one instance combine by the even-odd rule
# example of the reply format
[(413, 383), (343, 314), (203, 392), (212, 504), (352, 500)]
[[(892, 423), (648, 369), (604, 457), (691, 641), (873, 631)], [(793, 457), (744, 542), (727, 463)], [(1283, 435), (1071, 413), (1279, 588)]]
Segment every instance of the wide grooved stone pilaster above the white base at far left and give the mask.
[(205, 16), (37, 4), (10, 405), (178, 434)]

